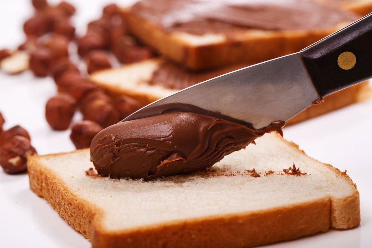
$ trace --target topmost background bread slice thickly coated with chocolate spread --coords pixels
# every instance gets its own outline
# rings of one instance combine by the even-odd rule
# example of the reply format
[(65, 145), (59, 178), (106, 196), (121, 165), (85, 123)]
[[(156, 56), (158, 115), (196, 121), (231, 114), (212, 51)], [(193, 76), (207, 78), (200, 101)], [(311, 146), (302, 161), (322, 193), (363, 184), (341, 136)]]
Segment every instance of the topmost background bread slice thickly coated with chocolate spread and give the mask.
[(122, 14), (132, 35), (191, 70), (298, 52), (359, 19), (339, 5), (311, 0), (168, 3), (141, 0)]

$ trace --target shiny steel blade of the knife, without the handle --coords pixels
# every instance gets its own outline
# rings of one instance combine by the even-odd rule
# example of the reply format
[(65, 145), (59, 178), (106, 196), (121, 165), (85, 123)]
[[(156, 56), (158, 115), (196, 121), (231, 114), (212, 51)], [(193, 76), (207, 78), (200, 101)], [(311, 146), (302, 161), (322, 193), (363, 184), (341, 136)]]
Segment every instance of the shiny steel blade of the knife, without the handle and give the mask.
[(192, 104), (252, 123), (259, 129), (287, 121), (319, 98), (300, 53), (251, 65), (177, 91), (123, 121), (156, 115), (154, 107)]

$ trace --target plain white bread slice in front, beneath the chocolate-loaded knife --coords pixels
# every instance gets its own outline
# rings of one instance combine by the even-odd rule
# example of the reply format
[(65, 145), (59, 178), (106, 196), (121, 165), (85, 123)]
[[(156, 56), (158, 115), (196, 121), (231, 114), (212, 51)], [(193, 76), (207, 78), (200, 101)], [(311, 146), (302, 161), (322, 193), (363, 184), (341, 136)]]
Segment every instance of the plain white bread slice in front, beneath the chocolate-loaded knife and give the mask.
[[(359, 225), (346, 173), (276, 133), (256, 143), (207, 171), (153, 181), (86, 175), (89, 149), (33, 156), (30, 187), (94, 248), (251, 247)], [(307, 175), (283, 172), (294, 163)]]

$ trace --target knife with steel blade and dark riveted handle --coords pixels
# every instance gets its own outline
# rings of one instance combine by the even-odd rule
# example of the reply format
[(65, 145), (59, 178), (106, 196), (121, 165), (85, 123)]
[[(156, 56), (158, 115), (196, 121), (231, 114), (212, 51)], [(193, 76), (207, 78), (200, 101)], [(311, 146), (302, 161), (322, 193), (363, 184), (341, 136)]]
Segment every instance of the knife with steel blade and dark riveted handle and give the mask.
[(372, 77), (372, 13), (294, 54), (206, 80), (157, 100), (122, 122), (199, 112), (260, 129)]

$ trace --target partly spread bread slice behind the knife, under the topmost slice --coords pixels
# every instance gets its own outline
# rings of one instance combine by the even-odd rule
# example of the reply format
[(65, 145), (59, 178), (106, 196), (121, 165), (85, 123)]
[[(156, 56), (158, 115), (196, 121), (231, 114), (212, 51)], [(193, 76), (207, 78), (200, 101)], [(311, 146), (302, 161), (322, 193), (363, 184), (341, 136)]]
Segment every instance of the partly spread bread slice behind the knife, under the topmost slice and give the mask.
[[(142, 106), (145, 106), (193, 83), (200, 83), (245, 66), (247, 65), (238, 64), (209, 70), (204, 73), (191, 73), (164, 59), (156, 58), (98, 71), (91, 74), (90, 78), (112, 96), (131, 96), (137, 99)], [(299, 113), (286, 122), (286, 125), (301, 122), (368, 99), (370, 95), (371, 88), (369, 88), (368, 82), (356, 84), (325, 97), (324, 102), (311, 106)]]

